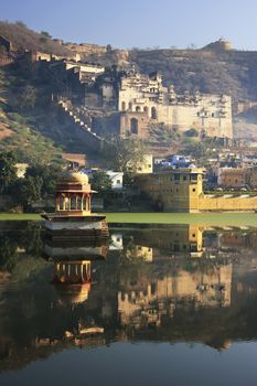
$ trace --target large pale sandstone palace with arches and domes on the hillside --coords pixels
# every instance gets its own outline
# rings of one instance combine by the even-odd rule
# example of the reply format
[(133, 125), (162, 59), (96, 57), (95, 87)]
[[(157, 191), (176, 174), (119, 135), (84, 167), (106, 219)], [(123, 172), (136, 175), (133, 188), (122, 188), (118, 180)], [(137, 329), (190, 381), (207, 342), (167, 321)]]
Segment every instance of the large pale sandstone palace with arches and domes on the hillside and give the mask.
[(120, 132), (146, 137), (151, 122), (179, 131), (196, 129), (204, 137), (233, 138), (232, 101), (227, 95), (176, 94), (164, 87), (162, 75), (132, 72), (120, 79), (118, 90)]

